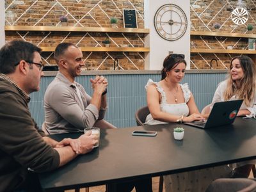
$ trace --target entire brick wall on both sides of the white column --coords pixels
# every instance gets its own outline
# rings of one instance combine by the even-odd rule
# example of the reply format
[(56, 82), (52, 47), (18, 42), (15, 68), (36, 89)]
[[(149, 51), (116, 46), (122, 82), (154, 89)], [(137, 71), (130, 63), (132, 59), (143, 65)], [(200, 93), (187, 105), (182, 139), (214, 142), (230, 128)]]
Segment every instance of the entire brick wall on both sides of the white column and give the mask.
[[(236, 8), (237, 1), (233, 0), (191, 0), (191, 31), (218, 31), (228, 33), (256, 33), (256, 1), (243, 0), (246, 10), (249, 12), (247, 24), (253, 24), (253, 31), (248, 32), (246, 25), (237, 26), (232, 22), (230, 17), (232, 10)], [(7, 25), (19, 26), (60, 26), (60, 16), (67, 15), (68, 26), (84, 26), (84, 27), (111, 27), (108, 17), (118, 18), (118, 28), (123, 27), (122, 9), (136, 8), (138, 28), (144, 28), (143, 24), (143, 0), (49, 0), (49, 1), (12, 1), (5, 0), (6, 12), (12, 11), (17, 14), (16, 22), (6, 23)], [(108, 16), (107, 16), (108, 15)], [(214, 29), (213, 24), (218, 22), (220, 29)], [(102, 40), (106, 38), (106, 33), (85, 33), (78, 32), (29, 32), (21, 31), (19, 33), (6, 32), (6, 40), (23, 38), (29, 42), (33, 42), (41, 47), (55, 47), (60, 42), (74, 42), (79, 46), (96, 46), (98, 42), (102, 45)], [(144, 35), (140, 38), (136, 34), (108, 33), (113, 41), (118, 45), (134, 47), (144, 47)], [(96, 42), (95, 42), (96, 40)], [(226, 38), (225, 36), (191, 36), (191, 48), (198, 49), (227, 49), (227, 46), (234, 46), (234, 49), (248, 49), (248, 38)], [(111, 47), (116, 45), (111, 42)], [(119, 58), (120, 64), (124, 69), (136, 69), (136, 67), (144, 68), (145, 54), (143, 52), (83, 52), (86, 68), (95, 70), (95, 68), (109, 69), (113, 66), (113, 58)], [(90, 56), (89, 56), (90, 55)], [(191, 53), (191, 68), (209, 68), (212, 58), (218, 60), (218, 66), (214, 68), (229, 67), (232, 57), (237, 54), (211, 54), (211, 53)], [(44, 62), (47, 65), (54, 65), (52, 60), (52, 52), (44, 52), (42, 54)], [(134, 66), (136, 65), (136, 67)]]

